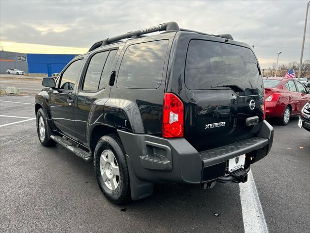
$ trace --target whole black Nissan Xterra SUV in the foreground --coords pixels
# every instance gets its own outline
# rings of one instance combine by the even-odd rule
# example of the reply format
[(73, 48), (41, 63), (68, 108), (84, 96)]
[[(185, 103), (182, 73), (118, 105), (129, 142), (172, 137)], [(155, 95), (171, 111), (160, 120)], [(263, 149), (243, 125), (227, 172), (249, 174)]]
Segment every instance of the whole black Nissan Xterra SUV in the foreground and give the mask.
[(246, 182), (272, 146), (258, 61), (230, 34), (175, 22), (125, 33), (96, 42), (42, 84), (40, 142), (93, 161), (114, 203), (147, 197), (154, 183)]

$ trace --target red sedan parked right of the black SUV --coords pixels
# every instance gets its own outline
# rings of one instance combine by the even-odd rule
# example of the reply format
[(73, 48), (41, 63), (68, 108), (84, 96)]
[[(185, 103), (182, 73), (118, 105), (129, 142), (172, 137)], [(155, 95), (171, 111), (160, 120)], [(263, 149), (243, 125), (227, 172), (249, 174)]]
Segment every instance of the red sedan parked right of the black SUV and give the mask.
[(263, 80), (265, 88), (266, 117), (279, 117), (286, 125), (290, 116), (299, 115), (310, 100), (309, 91), (294, 79), (268, 78)]

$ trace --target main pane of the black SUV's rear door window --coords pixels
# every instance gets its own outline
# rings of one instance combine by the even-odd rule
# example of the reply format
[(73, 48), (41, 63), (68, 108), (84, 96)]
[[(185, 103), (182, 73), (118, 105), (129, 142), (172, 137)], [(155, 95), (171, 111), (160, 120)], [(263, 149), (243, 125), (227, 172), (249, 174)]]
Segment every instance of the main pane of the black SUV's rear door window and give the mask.
[(107, 60), (109, 51), (98, 52), (91, 58), (85, 74), (83, 90), (96, 91), (98, 90), (100, 77), (103, 66)]

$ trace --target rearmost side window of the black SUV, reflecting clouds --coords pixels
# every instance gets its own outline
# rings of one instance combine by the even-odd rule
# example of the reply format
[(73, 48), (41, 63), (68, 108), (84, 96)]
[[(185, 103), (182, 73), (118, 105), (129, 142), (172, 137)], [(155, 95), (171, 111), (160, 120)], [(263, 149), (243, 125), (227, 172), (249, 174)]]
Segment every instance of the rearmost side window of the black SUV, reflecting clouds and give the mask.
[(128, 46), (116, 86), (142, 89), (159, 87), (168, 44), (168, 40), (160, 40)]

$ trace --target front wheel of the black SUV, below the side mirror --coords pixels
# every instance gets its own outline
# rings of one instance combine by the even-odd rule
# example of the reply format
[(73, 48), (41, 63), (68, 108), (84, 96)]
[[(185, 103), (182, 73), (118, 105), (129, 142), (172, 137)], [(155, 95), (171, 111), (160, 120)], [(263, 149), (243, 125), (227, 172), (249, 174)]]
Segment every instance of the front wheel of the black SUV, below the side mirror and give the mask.
[(42, 108), (37, 112), (36, 118), (37, 133), (41, 144), (45, 147), (55, 146), (57, 143), (54, 140), (49, 139), (50, 135), (48, 135), (49, 131), (47, 129), (47, 127), (49, 127), (47, 123), (47, 115)]

